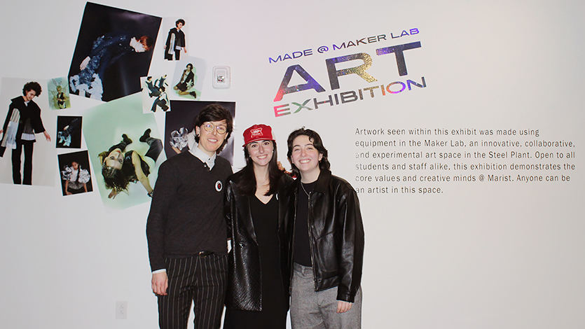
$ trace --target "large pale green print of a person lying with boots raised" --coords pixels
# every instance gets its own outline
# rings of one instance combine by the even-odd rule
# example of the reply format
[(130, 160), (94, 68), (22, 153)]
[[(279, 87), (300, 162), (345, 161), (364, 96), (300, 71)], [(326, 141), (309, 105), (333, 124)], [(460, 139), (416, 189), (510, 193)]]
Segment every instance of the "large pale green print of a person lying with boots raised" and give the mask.
[(106, 207), (150, 201), (165, 155), (154, 115), (142, 113), (140, 94), (88, 109), (83, 137), (95, 172), (92, 181)]

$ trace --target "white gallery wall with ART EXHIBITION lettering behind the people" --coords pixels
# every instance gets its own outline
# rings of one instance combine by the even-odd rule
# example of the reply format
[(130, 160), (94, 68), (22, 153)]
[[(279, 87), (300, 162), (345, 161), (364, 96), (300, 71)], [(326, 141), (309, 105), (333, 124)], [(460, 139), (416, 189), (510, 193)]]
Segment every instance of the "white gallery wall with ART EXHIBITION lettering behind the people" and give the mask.
[[(200, 100), (236, 104), (234, 170), (250, 125), (273, 127), (287, 168), (289, 132), (321, 134), (359, 193), (363, 328), (584, 328), (582, 1), (99, 3), (186, 19), (188, 55), (207, 61)], [(3, 7), (0, 90), (67, 76), (85, 2)], [(230, 88), (212, 87), (213, 66), (230, 66)], [(113, 209), (97, 183), (63, 197), (48, 159), (34, 166), (53, 166), (54, 186), (0, 184), (1, 326), (158, 328), (149, 203)], [(0, 162), (9, 176), (10, 151)]]

